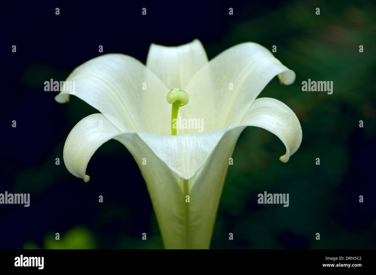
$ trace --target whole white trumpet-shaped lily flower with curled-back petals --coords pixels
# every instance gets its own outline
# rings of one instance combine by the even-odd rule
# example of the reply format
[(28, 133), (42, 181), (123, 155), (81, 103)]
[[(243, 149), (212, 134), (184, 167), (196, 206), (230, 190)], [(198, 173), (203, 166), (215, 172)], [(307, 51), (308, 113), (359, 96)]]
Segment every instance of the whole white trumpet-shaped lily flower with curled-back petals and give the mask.
[[(243, 129), (258, 126), (279, 137), (286, 146), (282, 162), (302, 141), (299, 120), (287, 105), (256, 99), (276, 75), (287, 85), (295, 80), (269, 50), (250, 42), (210, 62), (197, 39), (178, 47), (152, 44), (146, 66), (124, 54), (91, 59), (67, 81), (75, 81), (74, 95), (102, 114), (85, 117), (71, 130), (65, 166), (87, 182), (94, 152), (111, 138), (120, 141), (145, 179), (165, 248), (209, 248), (229, 158)], [(177, 107), (179, 116), (203, 119), (203, 132), (176, 129), (171, 135), (166, 96), (173, 88), (189, 95), (189, 104)], [(69, 96), (62, 91), (55, 99), (64, 103)]]

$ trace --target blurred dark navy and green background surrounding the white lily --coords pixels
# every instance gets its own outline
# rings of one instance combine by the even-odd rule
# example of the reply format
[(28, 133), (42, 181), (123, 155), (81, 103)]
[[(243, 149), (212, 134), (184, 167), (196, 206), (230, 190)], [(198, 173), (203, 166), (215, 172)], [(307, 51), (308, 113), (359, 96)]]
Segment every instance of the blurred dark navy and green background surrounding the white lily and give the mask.
[[(74, 96), (58, 104), (44, 81), (65, 80), (102, 54), (99, 45), (103, 54), (124, 53), (145, 63), (150, 43), (173, 46), (194, 38), (209, 59), (241, 42), (269, 50), (276, 45), (274, 55), (297, 78), (291, 86), (274, 78), (260, 97), (287, 104), (303, 129), (300, 149), (286, 164), (278, 160), (285, 147), (277, 137), (260, 128), (244, 130), (211, 248), (376, 248), (374, 2), (7, 5), (0, 17), (0, 193), (30, 193), (30, 207), (0, 205), (0, 248), (163, 248), (146, 184), (123, 145), (111, 140), (97, 150), (88, 183), (67, 171), (65, 138), (98, 111)], [(302, 92), (308, 78), (333, 81), (333, 94)], [(264, 191), (289, 193), (290, 206), (258, 204)], [(144, 232), (147, 241), (141, 240)]]

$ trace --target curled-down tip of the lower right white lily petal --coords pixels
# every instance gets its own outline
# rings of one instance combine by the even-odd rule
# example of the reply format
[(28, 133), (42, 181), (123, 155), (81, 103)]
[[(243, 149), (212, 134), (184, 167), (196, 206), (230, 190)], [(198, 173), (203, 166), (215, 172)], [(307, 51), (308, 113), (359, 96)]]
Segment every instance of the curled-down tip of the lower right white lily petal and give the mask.
[(274, 98), (256, 99), (237, 127), (244, 125), (261, 127), (276, 135), (286, 146), (285, 155), (279, 158), (282, 162), (287, 162), (302, 143), (302, 127), (296, 114)]

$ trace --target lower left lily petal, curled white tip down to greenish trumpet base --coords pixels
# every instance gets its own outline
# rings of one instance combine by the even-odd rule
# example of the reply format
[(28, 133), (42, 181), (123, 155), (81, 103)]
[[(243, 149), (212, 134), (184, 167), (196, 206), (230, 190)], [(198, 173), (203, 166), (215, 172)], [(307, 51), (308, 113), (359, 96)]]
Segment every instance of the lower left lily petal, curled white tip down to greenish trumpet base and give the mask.
[[(103, 127), (98, 126), (99, 120), (103, 121)], [(141, 170), (165, 247), (185, 248), (182, 180), (153, 153), (137, 132), (121, 132), (102, 114), (85, 117), (74, 126), (65, 141), (63, 156), (68, 171), (87, 182), (86, 167), (91, 156), (111, 138), (127, 147)], [(146, 165), (142, 165), (143, 158), (146, 158)]]

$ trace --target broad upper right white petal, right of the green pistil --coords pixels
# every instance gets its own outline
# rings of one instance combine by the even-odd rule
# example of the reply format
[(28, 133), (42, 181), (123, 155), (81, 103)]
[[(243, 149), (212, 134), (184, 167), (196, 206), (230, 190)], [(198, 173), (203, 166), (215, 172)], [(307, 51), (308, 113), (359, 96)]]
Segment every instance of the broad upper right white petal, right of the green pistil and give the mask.
[[(252, 42), (231, 47), (210, 60), (188, 83), (184, 90), (190, 103), (182, 108), (182, 117), (204, 119), (204, 132), (238, 125), (276, 75), (284, 84), (295, 80), (295, 73), (267, 48)], [(193, 132), (187, 129), (182, 134)]]

